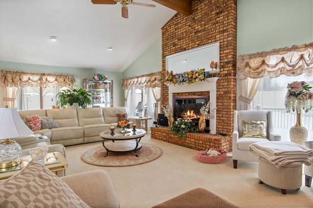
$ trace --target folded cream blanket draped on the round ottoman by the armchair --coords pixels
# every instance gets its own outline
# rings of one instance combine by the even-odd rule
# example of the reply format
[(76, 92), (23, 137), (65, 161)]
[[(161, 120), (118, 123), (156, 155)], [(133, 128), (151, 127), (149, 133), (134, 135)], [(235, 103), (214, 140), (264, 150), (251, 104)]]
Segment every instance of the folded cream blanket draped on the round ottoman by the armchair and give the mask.
[(291, 142), (257, 142), (249, 146), (249, 151), (264, 157), (277, 168), (292, 162), (303, 162), (308, 166), (312, 164), (310, 157), (313, 156), (313, 150)]

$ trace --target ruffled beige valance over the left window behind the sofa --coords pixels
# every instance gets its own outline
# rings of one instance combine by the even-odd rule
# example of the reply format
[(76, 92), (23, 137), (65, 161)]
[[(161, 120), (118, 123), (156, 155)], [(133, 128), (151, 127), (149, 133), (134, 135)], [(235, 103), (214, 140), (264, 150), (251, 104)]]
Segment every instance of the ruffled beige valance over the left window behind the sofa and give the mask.
[(75, 83), (73, 75), (54, 75), (44, 73), (28, 73), (15, 71), (1, 71), (0, 85), (7, 87), (67, 87), (72, 88)]

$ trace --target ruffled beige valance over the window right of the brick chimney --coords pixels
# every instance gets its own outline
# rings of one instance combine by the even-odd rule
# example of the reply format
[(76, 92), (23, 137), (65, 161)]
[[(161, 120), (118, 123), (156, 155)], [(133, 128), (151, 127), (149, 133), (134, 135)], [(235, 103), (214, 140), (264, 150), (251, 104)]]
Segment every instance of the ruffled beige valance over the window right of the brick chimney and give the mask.
[(313, 42), (269, 52), (239, 55), (236, 78), (313, 75)]

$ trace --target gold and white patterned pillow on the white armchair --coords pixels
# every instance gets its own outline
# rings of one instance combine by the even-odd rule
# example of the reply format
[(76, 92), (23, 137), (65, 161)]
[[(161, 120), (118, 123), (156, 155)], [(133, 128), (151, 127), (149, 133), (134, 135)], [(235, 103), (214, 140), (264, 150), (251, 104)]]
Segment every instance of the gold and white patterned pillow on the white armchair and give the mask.
[(243, 137), (266, 138), (266, 121), (242, 121)]

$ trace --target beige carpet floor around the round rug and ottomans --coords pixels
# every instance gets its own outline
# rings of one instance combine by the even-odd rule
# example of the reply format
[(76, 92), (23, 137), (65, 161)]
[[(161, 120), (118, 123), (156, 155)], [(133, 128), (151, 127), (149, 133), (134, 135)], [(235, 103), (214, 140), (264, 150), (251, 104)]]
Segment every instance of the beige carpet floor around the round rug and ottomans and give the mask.
[(98, 167), (82, 161), (81, 155), (101, 142), (68, 146), (69, 167), (66, 175), (88, 170), (106, 170), (115, 184), (121, 208), (151, 208), (194, 188), (204, 188), (243, 208), (313, 208), (313, 187), (298, 190), (280, 189), (259, 184), (258, 163), (232, 158), (223, 164), (206, 164), (196, 160), (198, 151), (151, 139), (142, 140), (160, 147), (158, 159), (130, 167)]

